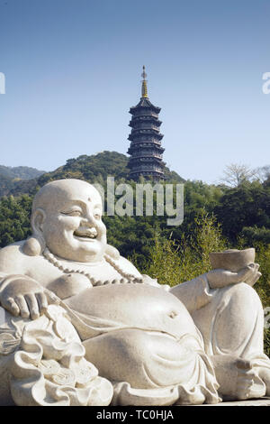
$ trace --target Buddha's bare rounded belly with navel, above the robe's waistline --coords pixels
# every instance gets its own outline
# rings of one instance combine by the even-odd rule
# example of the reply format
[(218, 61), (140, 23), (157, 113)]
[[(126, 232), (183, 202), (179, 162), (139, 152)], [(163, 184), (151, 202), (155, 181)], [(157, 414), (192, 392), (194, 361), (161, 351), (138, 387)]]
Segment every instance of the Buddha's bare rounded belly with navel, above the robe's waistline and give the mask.
[[(67, 305), (112, 327), (160, 331), (172, 336), (198, 336), (184, 304), (173, 294), (146, 284), (105, 285), (86, 289), (65, 300)], [(98, 324), (97, 324), (98, 325)]]

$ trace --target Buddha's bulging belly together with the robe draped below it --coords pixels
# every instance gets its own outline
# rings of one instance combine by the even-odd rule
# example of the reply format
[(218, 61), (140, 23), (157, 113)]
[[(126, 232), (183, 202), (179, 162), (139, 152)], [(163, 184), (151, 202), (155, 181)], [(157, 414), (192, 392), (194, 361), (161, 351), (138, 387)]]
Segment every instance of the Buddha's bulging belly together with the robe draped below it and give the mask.
[(147, 284), (105, 285), (65, 300), (86, 359), (114, 404), (216, 403), (218, 383), (181, 300)]

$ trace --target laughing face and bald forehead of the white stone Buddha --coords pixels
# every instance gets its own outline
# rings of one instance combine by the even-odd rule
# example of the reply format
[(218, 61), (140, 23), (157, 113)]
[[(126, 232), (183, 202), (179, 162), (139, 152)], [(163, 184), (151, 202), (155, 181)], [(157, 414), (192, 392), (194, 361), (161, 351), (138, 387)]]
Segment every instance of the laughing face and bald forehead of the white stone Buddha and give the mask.
[(100, 261), (106, 246), (106, 227), (97, 190), (85, 181), (66, 180), (53, 187), (50, 200), (46, 198), (40, 227), (50, 252), (75, 262)]

